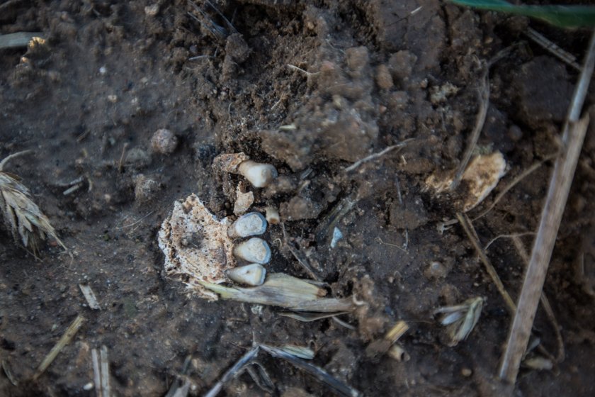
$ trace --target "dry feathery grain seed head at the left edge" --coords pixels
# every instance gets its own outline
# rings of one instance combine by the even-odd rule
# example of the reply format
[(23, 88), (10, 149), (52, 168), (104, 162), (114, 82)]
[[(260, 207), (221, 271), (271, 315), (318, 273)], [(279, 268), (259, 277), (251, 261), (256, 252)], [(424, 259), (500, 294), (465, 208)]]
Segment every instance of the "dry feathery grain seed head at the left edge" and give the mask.
[(15, 242), (22, 242), (25, 247), (33, 250), (34, 255), (37, 255), (40, 240), (45, 240), (48, 235), (66, 250), (50, 220), (31, 200), (27, 186), (3, 172), (8, 160), (26, 152), (28, 151), (15, 153), (0, 162), (0, 210), (6, 228), (11, 231)]

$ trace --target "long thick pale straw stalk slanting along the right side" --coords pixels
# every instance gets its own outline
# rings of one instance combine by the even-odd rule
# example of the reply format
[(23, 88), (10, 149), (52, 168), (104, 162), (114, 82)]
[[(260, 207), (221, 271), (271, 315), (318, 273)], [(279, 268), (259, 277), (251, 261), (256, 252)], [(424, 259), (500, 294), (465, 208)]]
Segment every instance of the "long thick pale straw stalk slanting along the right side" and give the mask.
[(595, 67), (595, 33), (591, 35), (589, 50), (584, 62), (579, 82), (574, 90), (572, 103), (568, 111), (567, 121), (562, 133), (564, 150), (555, 162), (554, 172), (550, 180), (548, 196), (541, 213), (540, 225), (537, 233), (531, 260), (529, 261), (523, 289), (519, 297), (519, 308), (514, 315), (511, 325), (506, 351), (502, 357), (500, 378), (514, 383), (519, 373), (519, 365), (525, 353), (533, 320), (548, 272), (550, 258), (560, 228), (562, 213), (566, 206), (570, 186), (574, 177), (574, 170), (581, 152), (584, 135), (587, 132), (589, 116), (579, 121), (580, 112), (587, 95), (589, 82)]

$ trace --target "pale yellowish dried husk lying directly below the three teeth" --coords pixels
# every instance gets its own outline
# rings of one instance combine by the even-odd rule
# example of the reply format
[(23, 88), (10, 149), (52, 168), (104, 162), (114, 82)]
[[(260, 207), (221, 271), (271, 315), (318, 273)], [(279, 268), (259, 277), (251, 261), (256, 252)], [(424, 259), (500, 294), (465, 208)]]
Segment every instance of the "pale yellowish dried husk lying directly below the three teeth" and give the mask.
[(354, 308), (351, 298), (323, 298), (326, 294), (324, 289), (283, 273), (269, 274), (264, 284), (252, 288), (227, 287), (201, 280), (198, 283), (223, 299), (279, 306), (293, 311), (333, 313)]

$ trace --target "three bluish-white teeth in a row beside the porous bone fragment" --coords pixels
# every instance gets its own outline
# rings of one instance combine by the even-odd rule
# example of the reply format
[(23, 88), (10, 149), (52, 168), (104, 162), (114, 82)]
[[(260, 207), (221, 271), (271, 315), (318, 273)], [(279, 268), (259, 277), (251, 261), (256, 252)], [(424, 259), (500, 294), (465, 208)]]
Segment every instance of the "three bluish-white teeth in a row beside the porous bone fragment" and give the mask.
[[(229, 226), (227, 235), (231, 238), (251, 237), (266, 232), (266, 219), (261, 213), (246, 213)], [(271, 248), (259, 237), (251, 237), (234, 245), (235, 257), (249, 262), (245, 266), (234, 267), (227, 271), (227, 276), (234, 282), (249, 286), (263, 284), (266, 269), (262, 266), (271, 260)]]

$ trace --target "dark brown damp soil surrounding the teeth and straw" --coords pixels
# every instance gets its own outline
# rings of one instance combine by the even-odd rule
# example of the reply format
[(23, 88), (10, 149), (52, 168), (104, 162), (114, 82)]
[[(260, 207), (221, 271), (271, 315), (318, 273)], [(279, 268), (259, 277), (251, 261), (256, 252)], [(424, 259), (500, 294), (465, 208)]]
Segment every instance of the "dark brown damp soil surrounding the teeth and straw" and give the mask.
[[(555, 153), (577, 71), (523, 31), (536, 28), (579, 60), (589, 32), (436, 0), (212, 3), (230, 25), (206, 1), (0, 4), (0, 33), (45, 38), (0, 50), (0, 157), (33, 150), (5, 170), (31, 189), (69, 248), (50, 242), (35, 258), (0, 230), (0, 395), (95, 396), (91, 350), (101, 346), (113, 396), (164, 396), (186, 357), (190, 394), (202, 395), (253, 339), (309, 346), (313, 364), (365, 396), (511, 392), (497, 378), (511, 317), (463, 229), (441, 228), (464, 193), (436, 195), (425, 181), (460, 163), (481, 62), (506, 48), (489, 69), (478, 144), (508, 164), (496, 191)], [(242, 151), (279, 172), (264, 189), (242, 187), (254, 192), (253, 208), (279, 208), (288, 236), (269, 228), (268, 271), (308, 278), (293, 247), (329, 295), (363, 302), (341, 316), (353, 330), (207, 301), (165, 276), (157, 232), (174, 201), (194, 193), (218, 217), (233, 216), (243, 179), (211, 165)], [(595, 394), (594, 153), (589, 130), (544, 289), (565, 358), (555, 359), (555, 328), (540, 308), (534, 334), (553, 369), (523, 369), (516, 396)], [(544, 162), (474, 221), (482, 244), (536, 230), (552, 169)], [(331, 247), (335, 225), (344, 237)], [(521, 237), (526, 250), (532, 240)], [(487, 255), (516, 299), (523, 259), (511, 238), (495, 240)], [(79, 284), (91, 286), (101, 310), (89, 308)], [(476, 296), (487, 299), (479, 323), (449, 346), (433, 311)], [(33, 380), (77, 315), (86, 319), (77, 335)], [(398, 320), (410, 326), (399, 340), (408, 361), (370, 345)], [(331, 393), (286, 362), (259, 360), (275, 396)], [(221, 393), (266, 394), (247, 373)]]

